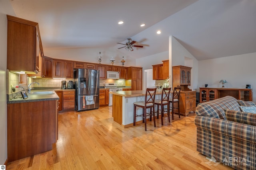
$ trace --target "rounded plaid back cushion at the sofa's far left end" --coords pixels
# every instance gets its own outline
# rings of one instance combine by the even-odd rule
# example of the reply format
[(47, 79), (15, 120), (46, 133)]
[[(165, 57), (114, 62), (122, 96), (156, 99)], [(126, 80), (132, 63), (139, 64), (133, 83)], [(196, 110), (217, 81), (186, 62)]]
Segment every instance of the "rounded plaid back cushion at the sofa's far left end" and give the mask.
[(223, 109), (240, 111), (237, 99), (232, 96), (225, 96), (210, 102), (200, 103), (196, 107), (196, 115), (210, 116), (226, 120), (226, 115)]

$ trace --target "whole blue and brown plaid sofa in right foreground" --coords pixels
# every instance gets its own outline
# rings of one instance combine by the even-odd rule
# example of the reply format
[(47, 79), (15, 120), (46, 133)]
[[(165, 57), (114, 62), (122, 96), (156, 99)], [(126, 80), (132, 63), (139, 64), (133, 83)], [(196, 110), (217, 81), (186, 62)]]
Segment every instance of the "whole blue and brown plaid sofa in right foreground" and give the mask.
[(198, 104), (197, 151), (218, 161), (211, 164), (256, 170), (256, 114), (242, 112), (239, 106), (256, 105), (232, 96)]

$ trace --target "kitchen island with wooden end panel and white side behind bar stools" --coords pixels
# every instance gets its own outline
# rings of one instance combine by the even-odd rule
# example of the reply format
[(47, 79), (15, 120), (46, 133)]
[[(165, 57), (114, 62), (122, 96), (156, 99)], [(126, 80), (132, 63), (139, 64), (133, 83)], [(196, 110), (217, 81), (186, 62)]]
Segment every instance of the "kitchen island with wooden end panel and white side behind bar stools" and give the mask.
[[(114, 121), (122, 127), (130, 127), (133, 125), (133, 103), (144, 101), (146, 90), (118, 91), (111, 92), (113, 94), (112, 116)], [(162, 90), (156, 90), (156, 99), (161, 99)], [(138, 108), (137, 113), (142, 113), (142, 109)], [(142, 122), (142, 117), (137, 117), (136, 122)]]

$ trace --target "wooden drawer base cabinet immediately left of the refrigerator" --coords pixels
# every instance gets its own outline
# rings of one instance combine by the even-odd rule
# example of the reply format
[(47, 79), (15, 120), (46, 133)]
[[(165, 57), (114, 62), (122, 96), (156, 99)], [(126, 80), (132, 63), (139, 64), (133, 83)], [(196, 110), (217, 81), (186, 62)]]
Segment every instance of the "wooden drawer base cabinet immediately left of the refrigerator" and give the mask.
[(63, 110), (75, 109), (75, 90), (63, 91)]

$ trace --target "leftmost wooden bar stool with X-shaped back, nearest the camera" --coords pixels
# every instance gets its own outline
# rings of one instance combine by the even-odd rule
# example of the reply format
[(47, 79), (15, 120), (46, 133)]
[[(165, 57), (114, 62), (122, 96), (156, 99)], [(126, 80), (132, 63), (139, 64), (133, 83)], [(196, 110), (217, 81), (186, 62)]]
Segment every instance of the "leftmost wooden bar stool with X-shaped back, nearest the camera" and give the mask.
[[(134, 126), (136, 125), (136, 117), (142, 117), (142, 121), (145, 123), (145, 131), (147, 131), (146, 117), (150, 116), (150, 121), (151, 121), (151, 117), (153, 115), (154, 127), (156, 127), (156, 118), (155, 118), (155, 115), (154, 115), (154, 112), (155, 112), (155, 107), (154, 107), (155, 96), (156, 96), (156, 88), (147, 88), (146, 89), (145, 100), (141, 101), (141, 102), (134, 102), (133, 103), (133, 107), (134, 107), (134, 110), (133, 110), (133, 115), (134, 115), (133, 125)], [(136, 114), (136, 107), (141, 107), (143, 109), (141, 115)], [(148, 108), (150, 108), (149, 113), (147, 113)], [(152, 112), (152, 108), (153, 108), (153, 112)]]

